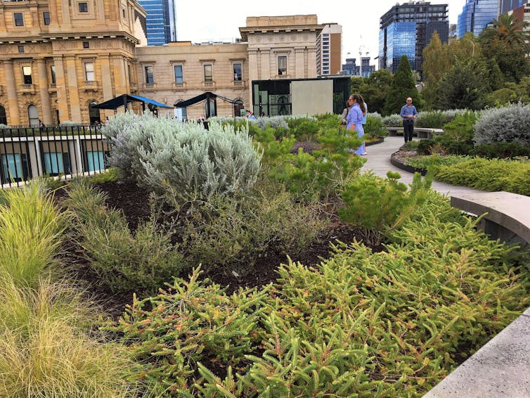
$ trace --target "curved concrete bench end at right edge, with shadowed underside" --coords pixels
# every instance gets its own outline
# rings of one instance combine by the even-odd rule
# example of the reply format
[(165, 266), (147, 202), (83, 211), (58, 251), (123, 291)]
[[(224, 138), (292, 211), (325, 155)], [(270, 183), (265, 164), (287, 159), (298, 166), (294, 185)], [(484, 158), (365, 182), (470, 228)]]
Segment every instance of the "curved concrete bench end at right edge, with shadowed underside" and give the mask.
[(530, 197), (511, 192), (463, 193), (451, 196), (451, 206), (477, 216), (479, 227), (494, 239), (530, 244)]

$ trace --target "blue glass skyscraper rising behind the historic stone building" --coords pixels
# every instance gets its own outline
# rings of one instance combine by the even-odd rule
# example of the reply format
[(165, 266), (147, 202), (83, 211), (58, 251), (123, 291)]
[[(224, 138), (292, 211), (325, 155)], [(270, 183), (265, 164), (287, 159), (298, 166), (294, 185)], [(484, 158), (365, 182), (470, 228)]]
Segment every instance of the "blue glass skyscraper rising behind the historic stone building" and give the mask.
[(176, 0), (138, 0), (147, 11), (147, 44), (160, 46), (176, 41)]

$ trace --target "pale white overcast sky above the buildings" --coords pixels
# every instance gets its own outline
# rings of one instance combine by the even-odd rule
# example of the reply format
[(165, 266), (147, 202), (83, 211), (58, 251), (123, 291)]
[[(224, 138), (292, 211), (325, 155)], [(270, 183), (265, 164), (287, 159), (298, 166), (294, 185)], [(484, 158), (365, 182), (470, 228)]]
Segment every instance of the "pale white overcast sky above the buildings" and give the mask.
[[(247, 17), (261, 15), (316, 14), (318, 23), (342, 25), (342, 61), (358, 58), (368, 52), (372, 59), (379, 47), (379, 18), (397, 3), (405, 0), (263, 0), (244, 1), (238, 5), (228, 1), (176, 0), (177, 39), (179, 41), (234, 40), (241, 37), (239, 27)], [(455, 24), (465, 0), (434, 0), (431, 4), (448, 4), (449, 23)], [(349, 54), (348, 54), (349, 53)], [(375, 64), (375, 61), (371, 62)]]

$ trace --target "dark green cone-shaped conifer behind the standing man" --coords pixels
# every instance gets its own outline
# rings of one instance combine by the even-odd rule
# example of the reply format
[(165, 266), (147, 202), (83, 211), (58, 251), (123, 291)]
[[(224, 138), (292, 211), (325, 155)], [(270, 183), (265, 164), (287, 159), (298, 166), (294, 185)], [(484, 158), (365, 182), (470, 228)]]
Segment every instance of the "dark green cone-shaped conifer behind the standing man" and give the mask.
[(384, 104), (383, 114), (392, 115), (399, 113), (401, 106), (405, 103), (406, 98), (411, 97), (416, 106), (420, 105), (421, 97), (416, 89), (416, 82), (413, 79), (411, 63), (408, 62), (406, 55), (401, 57), (398, 69), (394, 74), (392, 86), (390, 87)]

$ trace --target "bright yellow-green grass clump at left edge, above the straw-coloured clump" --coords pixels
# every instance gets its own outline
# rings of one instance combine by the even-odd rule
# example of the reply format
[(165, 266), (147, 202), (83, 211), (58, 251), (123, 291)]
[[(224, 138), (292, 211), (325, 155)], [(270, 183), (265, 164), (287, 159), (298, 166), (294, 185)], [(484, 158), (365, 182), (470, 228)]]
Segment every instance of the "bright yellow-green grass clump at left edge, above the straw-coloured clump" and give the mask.
[(4, 192), (0, 205), (0, 283), (37, 288), (51, 272), (61, 243), (64, 219), (58, 214), (45, 182), (32, 181)]

